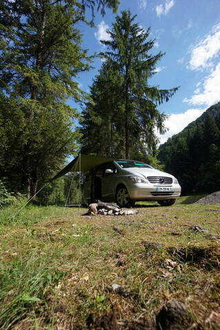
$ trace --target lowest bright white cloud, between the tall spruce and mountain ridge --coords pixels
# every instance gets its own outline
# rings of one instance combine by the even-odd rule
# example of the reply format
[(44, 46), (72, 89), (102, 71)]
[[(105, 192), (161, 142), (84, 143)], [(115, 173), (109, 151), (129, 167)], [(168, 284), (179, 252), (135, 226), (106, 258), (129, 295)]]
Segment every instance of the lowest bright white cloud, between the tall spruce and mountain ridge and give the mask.
[(172, 135), (181, 132), (188, 124), (195, 121), (206, 109), (188, 109), (181, 114), (170, 114), (165, 121), (165, 126), (169, 129), (166, 134), (159, 135), (160, 143), (165, 143)]

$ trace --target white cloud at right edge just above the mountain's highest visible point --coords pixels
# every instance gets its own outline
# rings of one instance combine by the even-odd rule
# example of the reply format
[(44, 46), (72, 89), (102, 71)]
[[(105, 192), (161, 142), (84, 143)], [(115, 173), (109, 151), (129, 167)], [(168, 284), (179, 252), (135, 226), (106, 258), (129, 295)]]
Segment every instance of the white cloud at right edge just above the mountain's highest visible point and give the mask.
[[(199, 85), (197, 84), (197, 87)], [(220, 63), (203, 80), (203, 91), (199, 91), (199, 94), (197, 94), (197, 91), (198, 88), (194, 91), (194, 95), (192, 95), (191, 99), (185, 98), (183, 102), (189, 103), (190, 105), (210, 106), (220, 101)]]

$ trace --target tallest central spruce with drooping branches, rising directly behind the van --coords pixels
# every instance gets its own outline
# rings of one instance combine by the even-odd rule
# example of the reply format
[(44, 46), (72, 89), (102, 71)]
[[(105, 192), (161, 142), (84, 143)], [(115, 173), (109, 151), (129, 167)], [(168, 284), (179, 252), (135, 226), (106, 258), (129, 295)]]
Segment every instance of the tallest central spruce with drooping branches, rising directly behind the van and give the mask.
[(123, 117), (125, 156), (130, 158), (132, 149), (148, 149), (153, 154), (157, 137), (154, 129), (160, 133), (165, 131), (163, 121), (165, 114), (161, 114), (157, 105), (168, 101), (177, 91), (161, 90), (157, 86), (150, 86), (149, 79), (155, 74), (157, 62), (163, 54), (150, 54), (154, 40), (147, 41), (150, 30), (144, 30), (138, 23), (134, 23), (130, 11), (121, 12), (112, 24), (109, 41), (101, 41), (106, 45), (106, 52), (101, 55), (108, 60), (111, 69), (121, 79), (114, 85), (121, 97), (118, 114)]

